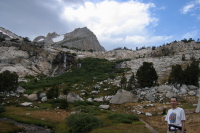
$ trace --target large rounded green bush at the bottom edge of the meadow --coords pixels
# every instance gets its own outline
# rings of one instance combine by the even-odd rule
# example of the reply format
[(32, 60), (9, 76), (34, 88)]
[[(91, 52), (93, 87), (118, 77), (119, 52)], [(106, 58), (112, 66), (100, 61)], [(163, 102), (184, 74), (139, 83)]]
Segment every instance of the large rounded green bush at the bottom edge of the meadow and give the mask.
[(67, 117), (67, 125), (71, 133), (88, 133), (95, 128), (101, 127), (102, 120), (91, 114), (72, 114)]

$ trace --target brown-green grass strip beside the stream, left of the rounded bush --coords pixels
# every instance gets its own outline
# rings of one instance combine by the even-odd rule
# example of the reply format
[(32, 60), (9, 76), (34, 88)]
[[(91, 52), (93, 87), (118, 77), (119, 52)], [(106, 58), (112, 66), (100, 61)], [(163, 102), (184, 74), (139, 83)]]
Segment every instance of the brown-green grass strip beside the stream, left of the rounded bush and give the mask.
[(18, 122), (45, 126), (56, 129), (58, 124), (64, 122), (68, 114), (62, 110), (35, 110), (23, 107), (6, 107), (6, 112), (1, 113), (1, 117), (13, 119)]

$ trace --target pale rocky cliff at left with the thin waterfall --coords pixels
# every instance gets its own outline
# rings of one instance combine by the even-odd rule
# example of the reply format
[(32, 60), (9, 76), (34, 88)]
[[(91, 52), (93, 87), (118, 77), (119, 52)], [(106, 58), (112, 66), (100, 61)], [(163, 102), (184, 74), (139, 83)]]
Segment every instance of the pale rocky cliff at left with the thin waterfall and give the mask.
[(0, 49), (0, 72), (9, 70), (19, 77), (60, 75), (72, 65), (76, 65), (75, 57), (69, 52), (42, 48), (32, 43), (2, 46)]

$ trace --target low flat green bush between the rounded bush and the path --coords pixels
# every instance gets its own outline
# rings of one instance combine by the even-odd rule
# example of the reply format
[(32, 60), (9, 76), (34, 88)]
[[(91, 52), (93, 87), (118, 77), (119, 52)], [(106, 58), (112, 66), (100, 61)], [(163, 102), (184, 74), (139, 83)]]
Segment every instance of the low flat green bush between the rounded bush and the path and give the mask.
[(133, 114), (109, 114), (108, 118), (115, 123), (127, 123), (127, 124), (139, 120), (139, 118)]

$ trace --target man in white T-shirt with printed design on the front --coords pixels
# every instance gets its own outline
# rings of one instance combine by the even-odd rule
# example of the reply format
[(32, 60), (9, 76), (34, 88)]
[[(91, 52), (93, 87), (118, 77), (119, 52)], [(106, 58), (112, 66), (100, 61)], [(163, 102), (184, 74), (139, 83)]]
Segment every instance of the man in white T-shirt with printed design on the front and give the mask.
[(168, 123), (167, 133), (185, 133), (185, 111), (178, 107), (177, 97), (171, 97), (171, 106), (165, 118)]

